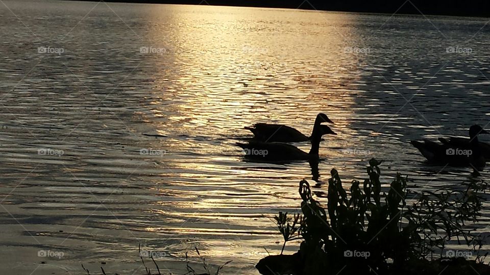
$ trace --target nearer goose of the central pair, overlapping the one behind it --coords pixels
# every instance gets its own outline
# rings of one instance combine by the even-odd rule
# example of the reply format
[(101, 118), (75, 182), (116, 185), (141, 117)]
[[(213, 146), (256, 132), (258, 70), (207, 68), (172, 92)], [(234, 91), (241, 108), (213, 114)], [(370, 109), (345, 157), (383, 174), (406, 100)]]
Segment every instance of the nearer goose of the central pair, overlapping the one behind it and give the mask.
[(311, 149), (306, 153), (286, 143), (265, 143), (251, 141), (248, 144), (237, 143), (247, 153), (246, 157), (265, 161), (318, 160), (318, 149), (324, 134), (336, 134), (327, 125), (320, 125), (312, 133)]

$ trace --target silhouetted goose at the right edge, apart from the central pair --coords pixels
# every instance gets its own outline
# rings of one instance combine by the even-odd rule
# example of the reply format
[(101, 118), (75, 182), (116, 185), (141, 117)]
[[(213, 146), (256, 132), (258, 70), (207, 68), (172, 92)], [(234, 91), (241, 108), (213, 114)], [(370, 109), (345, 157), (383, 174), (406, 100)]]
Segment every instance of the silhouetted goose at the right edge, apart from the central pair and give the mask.
[(470, 127), (470, 141), (466, 144), (438, 144), (425, 140), (424, 142), (411, 141), (410, 143), (422, 153), (431, 163), (446, 164), (448, 166), (472, 166), (480, 171), (485, 167), (485, 158), (481, 153), (478, 142), (479, 134), (490, 134), (479, 125)]

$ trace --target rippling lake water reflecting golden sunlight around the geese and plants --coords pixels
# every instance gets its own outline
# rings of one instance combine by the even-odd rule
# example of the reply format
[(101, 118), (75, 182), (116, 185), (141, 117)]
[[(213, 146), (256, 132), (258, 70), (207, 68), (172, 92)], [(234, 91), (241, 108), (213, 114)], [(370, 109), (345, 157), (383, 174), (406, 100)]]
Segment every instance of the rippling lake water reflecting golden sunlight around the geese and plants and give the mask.
[(197, 246), (211, 265), (233, 260), (225, 274), (258, 274), (282, 245), (271, 218), (314, 181), (308, 163), (243, 161), (234, 143), (254, 122), (309, 133), (326, 113), (338, 135), (321, 144), (320, 182), (332, 168), (362, 179), (375, 156), (385, 187), (400, 172), (412, 189), (462, 188), (470, 169), (428, 166), (409, 141), (490, 122), (486, 23), (4, 1), (0, 270), (143, 274), (141, 244), (162, 273), (185, 273), (185, 252), (198, 267)]

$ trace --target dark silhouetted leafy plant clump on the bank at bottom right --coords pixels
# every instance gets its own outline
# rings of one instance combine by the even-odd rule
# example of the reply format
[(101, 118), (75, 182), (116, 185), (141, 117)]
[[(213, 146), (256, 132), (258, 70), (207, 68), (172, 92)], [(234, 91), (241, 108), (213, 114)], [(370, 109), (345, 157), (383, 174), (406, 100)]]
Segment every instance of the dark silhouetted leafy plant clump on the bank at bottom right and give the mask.
[[(483, 263), (486, 254), (479, 253), (483, 240), (469, 227), (477, 222), (481, 192), (488, 184), (470, 179), (454, 190), (415, 193), (398, 174), (386, 194), (381, 193), (380, 164), (370, 160), (369, 177), (362, 183), (352, 181), (349, 193), (333, 169), (326, 209), (302, 180), (302, 214), (280, 212), (275, 217), (284, 245), (303, 240), (299, 251), (263, 258), (256, 265), (260, 273), (490, 274)], [(451, 257), (461, 252), (448, 250), (449, 241), (468, 245), (473, 257)]]

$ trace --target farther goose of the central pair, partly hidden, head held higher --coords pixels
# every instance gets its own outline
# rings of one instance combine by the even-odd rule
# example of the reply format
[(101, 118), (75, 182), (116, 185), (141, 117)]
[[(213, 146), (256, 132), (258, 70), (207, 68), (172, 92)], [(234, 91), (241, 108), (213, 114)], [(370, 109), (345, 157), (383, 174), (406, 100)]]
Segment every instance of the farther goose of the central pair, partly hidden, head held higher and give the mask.
[(306, 136), (295, 128), (282, 124), (256, 123), (245, 127), (254, 134), (254, 140), (261, 142), (305, 142), (311, 141), (313, 132), (322, 122), (333, 123), (325, 114), (316, 115), (315, 124), (310, 136)]

